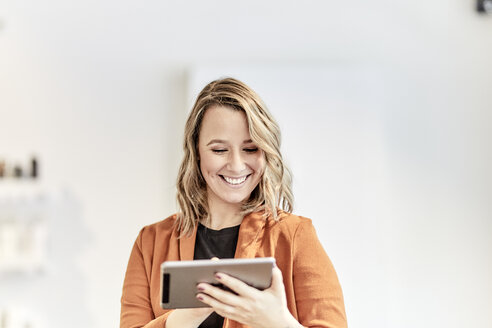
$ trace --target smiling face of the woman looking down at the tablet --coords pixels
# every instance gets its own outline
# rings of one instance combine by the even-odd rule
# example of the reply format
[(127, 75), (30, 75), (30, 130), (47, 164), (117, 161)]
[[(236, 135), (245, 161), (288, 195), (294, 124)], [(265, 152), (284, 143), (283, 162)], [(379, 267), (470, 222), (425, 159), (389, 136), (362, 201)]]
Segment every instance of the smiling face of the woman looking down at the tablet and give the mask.
[(224, 106), (206, 110), (198, 153), (210, 205), (246, 201), (265, 168), (263, 151), (251, 141), (246, 114)]

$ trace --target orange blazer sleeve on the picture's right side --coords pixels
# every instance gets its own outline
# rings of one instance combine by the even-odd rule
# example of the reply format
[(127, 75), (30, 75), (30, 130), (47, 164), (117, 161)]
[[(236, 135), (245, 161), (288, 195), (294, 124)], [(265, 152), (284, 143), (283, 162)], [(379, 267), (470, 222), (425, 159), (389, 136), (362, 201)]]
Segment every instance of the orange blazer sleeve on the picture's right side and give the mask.
[(294, 235), (294, 292), (299, 322), (305, 327), (346, 328), (342, 289), (311, 220)]

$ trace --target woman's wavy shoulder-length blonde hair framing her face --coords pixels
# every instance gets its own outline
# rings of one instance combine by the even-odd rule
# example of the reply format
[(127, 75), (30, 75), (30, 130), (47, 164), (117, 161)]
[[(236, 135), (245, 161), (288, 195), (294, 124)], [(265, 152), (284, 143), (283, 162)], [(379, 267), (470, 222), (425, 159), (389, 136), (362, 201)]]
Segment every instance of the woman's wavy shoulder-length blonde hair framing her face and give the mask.
[(251, 140), (265, 155), (265, 170), (258, 186), (242, 206), (242, 214), (263, 210), (265, 219), (277, 220), (277, 210), (293, 209), (292, 178), (280, 153), (280, 128), (260, 97), (246, 84), (233, 78), (212, 81), (203, 88), (186, 121), (184, 156), (177, 178), (180, 212), (177, 224), (181, 236), (191, 234), (201, 219), (208, 219), (207, 187), (198, 163), (198, 137), (205, 111), (226, 106), (246, 114)]

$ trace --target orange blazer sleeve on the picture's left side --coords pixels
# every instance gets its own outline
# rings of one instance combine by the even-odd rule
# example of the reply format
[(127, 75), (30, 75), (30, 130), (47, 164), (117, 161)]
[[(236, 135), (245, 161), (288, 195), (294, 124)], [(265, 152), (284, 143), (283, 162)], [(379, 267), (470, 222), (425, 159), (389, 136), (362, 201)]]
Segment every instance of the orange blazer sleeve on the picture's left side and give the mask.
[(150, 301), (150, 266), (142, 252), (140, 231), (128, 261), (121, 296), (120, 328), (164, 328), (172, 311), (155, 318)]

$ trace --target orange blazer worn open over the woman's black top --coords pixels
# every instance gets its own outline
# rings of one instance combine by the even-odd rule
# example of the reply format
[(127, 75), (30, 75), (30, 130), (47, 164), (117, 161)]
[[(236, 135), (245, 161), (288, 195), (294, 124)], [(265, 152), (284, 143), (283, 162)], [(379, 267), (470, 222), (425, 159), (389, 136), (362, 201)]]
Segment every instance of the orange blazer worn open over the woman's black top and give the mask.
[[(192, 260), (196, 228), (178, 238), (176, 215), (144, 227), (133, 246), (123, 284), (120, 328), (164, 328), (172, 310), (160, 307), (160, 265)], [(283, 274), (287, 305), (305, 327), (347, 327), (342, 289), (310, 219), (281, 212), (244, 217), (235, 258), (274, 257)], [(225, 328), (248, 326), (224, 320)]]

